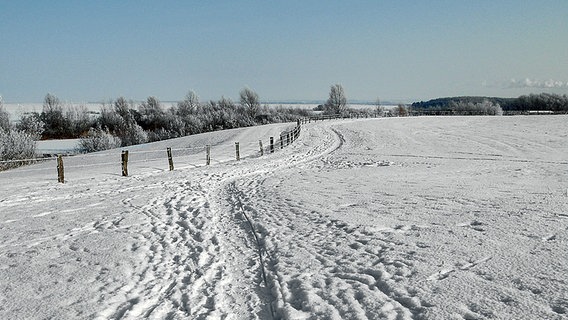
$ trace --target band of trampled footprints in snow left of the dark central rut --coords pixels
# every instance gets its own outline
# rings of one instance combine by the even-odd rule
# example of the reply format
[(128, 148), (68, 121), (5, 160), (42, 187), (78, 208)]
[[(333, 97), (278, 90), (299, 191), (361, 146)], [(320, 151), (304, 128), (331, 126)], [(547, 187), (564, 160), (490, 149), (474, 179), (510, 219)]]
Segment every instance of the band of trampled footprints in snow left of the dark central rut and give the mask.
[(214, 296), (221, 272), (215, 259), (220, 247), (211, 230), (215, 216), (199, 185), (186, 183), (170, 194), (165, 201), (153, 199), (141, 207), (125, 200), (150, 224), (131, 248), (145, 255), (145, 261), (131, 270), (130, 283), (101, 295), (116, 301), (100, 318), (199, 318), (211, 311), (207, 297)]

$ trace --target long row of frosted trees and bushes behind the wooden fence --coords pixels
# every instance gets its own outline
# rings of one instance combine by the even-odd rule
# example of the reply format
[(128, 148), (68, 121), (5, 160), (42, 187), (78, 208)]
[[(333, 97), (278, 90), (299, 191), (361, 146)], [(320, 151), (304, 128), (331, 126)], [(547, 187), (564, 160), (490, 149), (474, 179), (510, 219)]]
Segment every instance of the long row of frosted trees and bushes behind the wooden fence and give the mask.
[(190, 91), (182, 101), (168, 107), (153, 96), (141, 103), (119, 97), (102, 104), (99, 113), (82, 106), (64, 107), (59, 98), (47, 94), (41, 113), (25, 114), (15, 125), (10, 124), (0, 104), (0, 125), (4, 132), (26, 133), (36, 140), (81, 138), (82, 151), (91, 152), (215, 130), (292, 122), (311, 114), (306, 109), (263, 106), (250, 88), (240, 91), (238, 102), (221, 97), (203, 103)]

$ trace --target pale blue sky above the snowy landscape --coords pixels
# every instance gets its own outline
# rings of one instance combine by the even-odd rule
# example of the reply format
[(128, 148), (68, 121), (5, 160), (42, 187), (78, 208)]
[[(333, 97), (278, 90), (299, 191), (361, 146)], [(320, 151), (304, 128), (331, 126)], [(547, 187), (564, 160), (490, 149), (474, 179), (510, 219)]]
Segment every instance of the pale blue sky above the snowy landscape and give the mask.
[(5, 102), (568, 93), (568, 1), (0, 0)]

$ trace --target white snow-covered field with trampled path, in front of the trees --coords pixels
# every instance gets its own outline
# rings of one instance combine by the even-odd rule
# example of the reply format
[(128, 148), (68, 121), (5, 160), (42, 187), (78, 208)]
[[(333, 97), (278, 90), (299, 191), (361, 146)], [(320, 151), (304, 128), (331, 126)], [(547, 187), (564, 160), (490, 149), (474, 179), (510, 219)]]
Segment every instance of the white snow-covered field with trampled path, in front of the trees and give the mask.
[(270, 125), (130, 148), (129, 177), (120, 150), (65, 184), (2, 172), (0, 318), (567, 319), (567, 120), (334, 120), (259, 157)]

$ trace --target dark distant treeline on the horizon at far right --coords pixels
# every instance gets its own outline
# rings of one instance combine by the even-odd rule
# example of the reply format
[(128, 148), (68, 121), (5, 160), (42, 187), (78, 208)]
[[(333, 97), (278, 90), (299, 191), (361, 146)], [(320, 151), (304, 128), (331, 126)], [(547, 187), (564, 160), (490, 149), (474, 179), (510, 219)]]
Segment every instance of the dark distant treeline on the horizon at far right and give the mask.
[[(523, 95), (518, 98), (496, 97), (449, 97), (414, 102), (415, 112), (453, 112), (459, 114), (468, 110), (483, 110), (481, 106), (500, 107), (504, 114), (519, 114), (529, 111), (551, 111), (568, 113), (568, 96), (552, 93)], [(468, 108), (468, 106), (470, 108)]]

